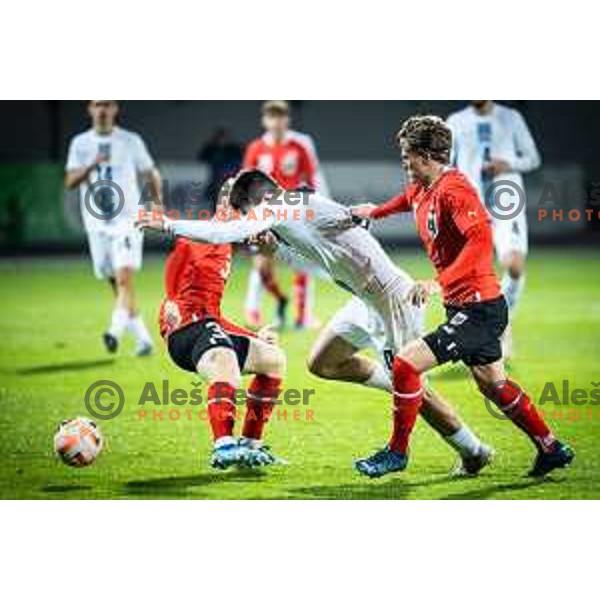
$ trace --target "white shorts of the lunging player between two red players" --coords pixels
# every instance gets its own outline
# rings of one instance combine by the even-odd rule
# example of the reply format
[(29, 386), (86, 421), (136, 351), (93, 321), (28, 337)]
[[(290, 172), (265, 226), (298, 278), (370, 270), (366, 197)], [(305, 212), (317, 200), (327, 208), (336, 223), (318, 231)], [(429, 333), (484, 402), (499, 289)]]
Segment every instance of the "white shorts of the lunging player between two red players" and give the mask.
[(424, 333), (424, 310), (410, 310), (410, 323), (401, 327), (402, 331), (396, 330), (394, 334), (389, 334), (386, 333), (385, 322), (381, 316), (354, 296), (335, 313), (326, 328), (358, 350), (371, 348), (382, 355), (389, 350), (395, 355), (402, 345)]

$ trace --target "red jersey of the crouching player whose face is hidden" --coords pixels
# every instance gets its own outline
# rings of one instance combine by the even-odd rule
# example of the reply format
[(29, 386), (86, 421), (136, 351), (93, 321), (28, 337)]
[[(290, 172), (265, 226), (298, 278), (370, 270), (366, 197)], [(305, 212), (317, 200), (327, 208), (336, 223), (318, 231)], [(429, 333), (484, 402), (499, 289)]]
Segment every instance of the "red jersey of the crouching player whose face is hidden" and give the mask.
[(208, 317), (228, 333), (254, 336), (221, 314), (221, 299), (231, 270), (231, 245), (201, 244), (177, 238), (165, 265), (166, 298), (160, 307), (160, 333), (166, 337)]

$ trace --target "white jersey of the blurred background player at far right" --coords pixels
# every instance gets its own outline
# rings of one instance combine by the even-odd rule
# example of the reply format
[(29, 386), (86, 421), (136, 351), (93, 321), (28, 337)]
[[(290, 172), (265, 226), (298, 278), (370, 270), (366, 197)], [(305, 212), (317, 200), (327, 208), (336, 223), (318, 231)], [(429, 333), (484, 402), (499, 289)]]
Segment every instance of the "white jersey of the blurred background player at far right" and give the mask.
[[(521, 173), (541, 164), (525, 119), (508, 106), (493, 103), (489, 115), (479, 115), (473, 106), (468, 106), (450, 115), (448, 125), (453, 135), (453, 163), (471, 180), (482, 200), (494, 181), (512, 181), (523, 189)], [(507, 161), (510, 172), (489, 179), (482, 167), (492, 159)]]

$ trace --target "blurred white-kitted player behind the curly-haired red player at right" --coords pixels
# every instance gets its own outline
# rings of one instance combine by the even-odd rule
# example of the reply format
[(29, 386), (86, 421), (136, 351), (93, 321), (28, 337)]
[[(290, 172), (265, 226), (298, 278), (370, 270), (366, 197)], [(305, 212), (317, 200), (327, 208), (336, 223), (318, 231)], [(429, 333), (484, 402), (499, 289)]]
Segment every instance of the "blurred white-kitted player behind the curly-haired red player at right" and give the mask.
[[(453, 162), (469, 177), (479, 191), (482, 202), (494, 203), (492, 216), (496, 256), (502, 266), (502, 293), (509, 308), (515, 308), (525, 285), (527, 256), (527, 211), (525, 207), (511, 218), (502, 216), (507, 199), (498, 196), (500, 184), (508, 181), (518, 186), (510, 202), (517, 202), (518, 191), (524, 194), (523, 173), (537, 169), (540, 155), (523, 116), (516, 110), (491, 100), (473, 100), (467, 108), (448, 117), (453, 133)], [(512, 349), (507, 329), (505, 352)]]

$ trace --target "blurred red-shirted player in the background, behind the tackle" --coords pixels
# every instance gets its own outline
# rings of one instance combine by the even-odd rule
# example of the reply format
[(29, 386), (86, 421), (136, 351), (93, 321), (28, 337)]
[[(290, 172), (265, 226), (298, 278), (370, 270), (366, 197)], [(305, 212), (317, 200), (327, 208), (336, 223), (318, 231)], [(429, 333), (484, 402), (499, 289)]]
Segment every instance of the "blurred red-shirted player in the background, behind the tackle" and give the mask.
[[(250, 143), (244, 157), (244, 168), (258, 168), (274, 177), (285, 189), (300, 187), (316, 189), (327, 195), (327, 183), (319, 167), (313, 139), (290, 129), (290, 108), (283, 100), (269, 100), (262, 107), (262, 124), (265, 134)], [(277, 281), (275, 261), (260, 253), (248, 280), (245, 312), (248, 323), (259, 326), (261, 297), (266, 288), (277, 301), (276, 325), (283, 327), (288, 298)], [(297, 271), (294, 277), (295, 326), (315, 326), (312, 315), (314, 302), (311, 278), (307, 271)]]

